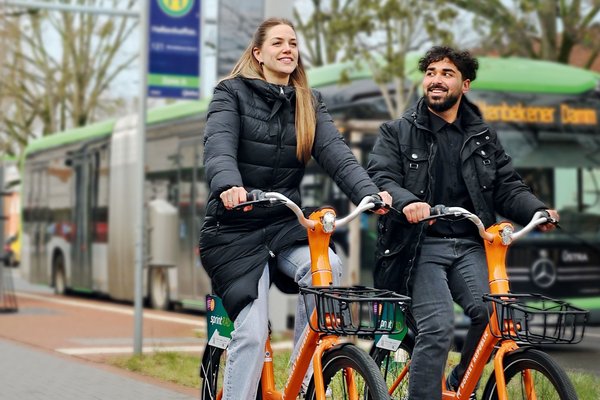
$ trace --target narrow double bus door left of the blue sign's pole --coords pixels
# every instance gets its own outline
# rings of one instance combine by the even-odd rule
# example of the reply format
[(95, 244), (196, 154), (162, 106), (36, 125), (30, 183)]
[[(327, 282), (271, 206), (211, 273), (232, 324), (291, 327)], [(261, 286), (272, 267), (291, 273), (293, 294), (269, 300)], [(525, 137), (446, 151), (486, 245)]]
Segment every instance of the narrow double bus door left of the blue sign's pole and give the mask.
[(73, 154), (71, 160), (75, 174), (71, 286), (91, 290), (93, 210), (96, 208), (99, 154), (84, 147)]

